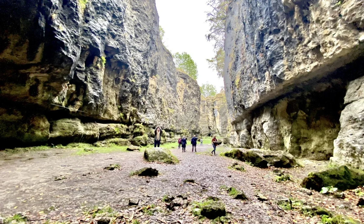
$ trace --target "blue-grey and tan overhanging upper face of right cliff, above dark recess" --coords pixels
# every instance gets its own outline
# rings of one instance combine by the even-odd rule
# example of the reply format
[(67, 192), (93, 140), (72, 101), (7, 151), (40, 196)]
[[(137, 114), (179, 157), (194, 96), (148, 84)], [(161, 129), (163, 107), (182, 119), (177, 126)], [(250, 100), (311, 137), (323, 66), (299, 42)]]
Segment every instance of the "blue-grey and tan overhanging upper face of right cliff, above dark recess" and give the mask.
[(364, 0), (341, 2), (230, 3), (224, 81), (232, 122), (297, 84), (322, 78), (360, 56)]

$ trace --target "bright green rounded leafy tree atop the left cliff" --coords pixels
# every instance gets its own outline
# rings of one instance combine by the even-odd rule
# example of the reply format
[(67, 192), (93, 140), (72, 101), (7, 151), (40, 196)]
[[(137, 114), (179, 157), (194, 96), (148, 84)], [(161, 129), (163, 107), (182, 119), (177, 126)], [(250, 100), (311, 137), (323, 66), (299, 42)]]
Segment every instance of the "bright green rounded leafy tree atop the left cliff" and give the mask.
[(186, 52), (175, 53), (173, 55), (174, 63), (176, 64), (177, 70), (182, 70), (183, 72), (187, 73), (190, 77), (194, 80), (197, 79), (198, 72), (197, 72), (197, 65), (192, 60), (191, 56)]

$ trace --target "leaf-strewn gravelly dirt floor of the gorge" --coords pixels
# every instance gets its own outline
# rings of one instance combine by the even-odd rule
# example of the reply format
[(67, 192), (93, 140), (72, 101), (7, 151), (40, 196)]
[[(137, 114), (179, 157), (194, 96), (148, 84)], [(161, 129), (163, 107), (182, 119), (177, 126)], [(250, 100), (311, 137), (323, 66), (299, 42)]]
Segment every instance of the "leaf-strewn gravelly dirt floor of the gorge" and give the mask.
[[(219, 152), (229, 149), (218, 147)], [(212, 156), (210, 150), (210, 145), (198, 146), (197, 153), (190, 146), (186, 152), (173, 149), (180, 160), (176, 165), (147, 163), (142, 152), (75, 155), (74, 150), (52, 149), (6, 156), (0, 159), (0, 213), (10, 217), (21, 212), (30, 223), (96, 223), (107, 216), (115, 223), (210, 223), (191, 211), (197, 201), (215, 196), (226, 206), (228, 223), (319, 223), (320, 216), (301, 212), (308, 205), (364, 221), (364, 208), (356, 206), (359, 196), (353, 191), (337, 199), (300, 187), (300, 180), (325, 168), (325, 162), (301, 160), (304, 167), (280, 169), (292, 181), (277, 183), (274, 167), (238, 162), (245, 171), (229, 169), (236, 160)], [(105, 170), (110, 164), (120, 167)], [(159, 175), (130, 176), (143, 167), (155, 168)], [(233, 199), (227, 187), (244, 191), (249, 199)], [(166, 195), (183, 195), (188, 205), (171, 211), (163, 202)], [(293, 209), (277, 205), (285, 198)], [(129, 205), (133, 202), (138, 205)], [(21, 220), (21, 215), (13, 218)]]

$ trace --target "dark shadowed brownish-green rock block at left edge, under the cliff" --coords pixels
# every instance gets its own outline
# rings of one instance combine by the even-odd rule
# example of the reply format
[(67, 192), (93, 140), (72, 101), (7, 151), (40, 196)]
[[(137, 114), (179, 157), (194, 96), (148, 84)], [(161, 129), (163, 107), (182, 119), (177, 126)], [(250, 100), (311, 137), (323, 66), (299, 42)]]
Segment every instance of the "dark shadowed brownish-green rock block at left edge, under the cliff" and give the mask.
[(49, 127), (44, 115), (0, 108), (0, 140), (3, 146), (45, 143), (50, 135)]

